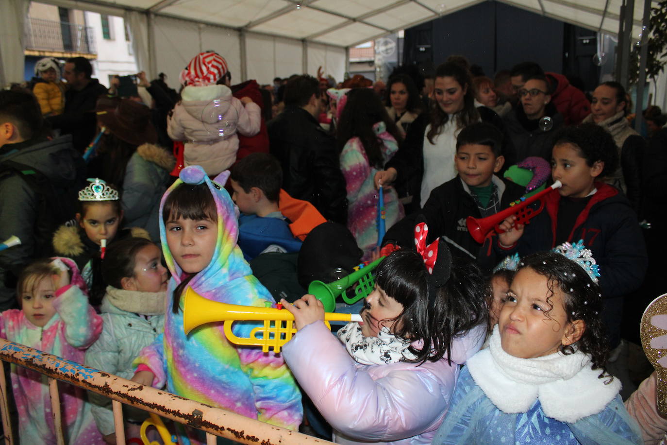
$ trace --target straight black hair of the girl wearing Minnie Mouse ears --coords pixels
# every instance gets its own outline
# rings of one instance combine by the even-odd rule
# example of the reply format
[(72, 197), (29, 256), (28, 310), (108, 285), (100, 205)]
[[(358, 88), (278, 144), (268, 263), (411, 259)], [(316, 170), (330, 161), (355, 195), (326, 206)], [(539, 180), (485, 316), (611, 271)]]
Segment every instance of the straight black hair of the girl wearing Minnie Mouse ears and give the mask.
[(446, 357), (451, 363), (454, 339), (488, 324), (490, 287), (474, 263), (459, 258), (452, 259), (444, 286), (430, 290), (431, 279), (420, 254), (398, 250), (378, 266), (376, 283), (403, 305), (403, 311), (391, 320), (398, 322), (394, 334), (410, 342), (422, 341), (421, 348), (408, 348), (416, 356), (410, 362), (437, 362)]

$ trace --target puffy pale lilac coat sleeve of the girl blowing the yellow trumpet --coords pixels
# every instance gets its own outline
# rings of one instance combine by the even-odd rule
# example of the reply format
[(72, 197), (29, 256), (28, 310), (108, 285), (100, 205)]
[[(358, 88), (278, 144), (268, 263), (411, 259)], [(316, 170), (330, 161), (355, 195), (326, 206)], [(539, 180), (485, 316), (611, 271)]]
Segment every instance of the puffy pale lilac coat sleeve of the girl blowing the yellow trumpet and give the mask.
[(283, 358), (324, 418), (356, 440), (391, 442), (438, 428), (458, 365), (358, 365), (323, 322), (305, 326)]

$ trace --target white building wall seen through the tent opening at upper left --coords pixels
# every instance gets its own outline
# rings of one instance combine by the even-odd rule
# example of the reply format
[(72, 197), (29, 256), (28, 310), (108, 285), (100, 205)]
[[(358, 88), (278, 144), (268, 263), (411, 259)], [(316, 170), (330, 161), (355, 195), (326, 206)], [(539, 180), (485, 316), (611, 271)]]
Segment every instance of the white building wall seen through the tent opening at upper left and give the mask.
[(85, 11), (86, 25), (93, 28), (97, 60), (92, 61), (93, 77), (99, 83), (109, 87), (109, 75), (128, 75), (137, 73), (137, 62), (132, 53), (132, 45), (125, 40), (125, 21), (123, 17), (109, 15), (111, 39), (102, 36), (101, 16)]

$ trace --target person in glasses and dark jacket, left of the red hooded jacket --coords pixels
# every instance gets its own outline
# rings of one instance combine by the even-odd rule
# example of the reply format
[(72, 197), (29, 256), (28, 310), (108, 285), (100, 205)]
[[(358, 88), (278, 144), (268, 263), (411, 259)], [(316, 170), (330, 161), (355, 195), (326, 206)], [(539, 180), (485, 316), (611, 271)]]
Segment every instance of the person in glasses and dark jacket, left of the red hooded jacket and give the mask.
[(563, 125), (563, 116), (551, 102), (546, 77), (529, 77), (517, 95), (520, 103), (503, 118), (516, 149), (517, 161), (529, 156), (551, 161), (554, 137)]

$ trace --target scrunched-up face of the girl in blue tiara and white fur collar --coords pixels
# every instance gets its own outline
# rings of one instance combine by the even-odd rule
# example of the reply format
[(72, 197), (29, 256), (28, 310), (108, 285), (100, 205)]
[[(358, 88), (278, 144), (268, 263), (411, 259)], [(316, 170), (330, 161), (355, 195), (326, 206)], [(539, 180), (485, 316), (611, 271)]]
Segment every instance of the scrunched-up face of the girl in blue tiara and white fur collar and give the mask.
[(558, 284), (548, 286), (546, 276), (530, 268), (519, 270), (512, 280), (498, 328), (503, 350), (518, 358), (554, 354), (561, 345), (579, 340), (583, 333), (568, 322)]

